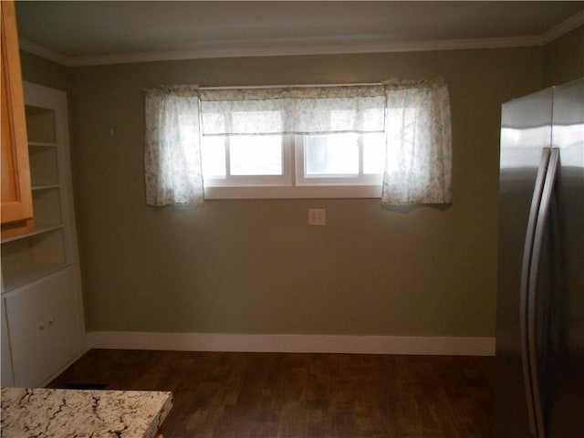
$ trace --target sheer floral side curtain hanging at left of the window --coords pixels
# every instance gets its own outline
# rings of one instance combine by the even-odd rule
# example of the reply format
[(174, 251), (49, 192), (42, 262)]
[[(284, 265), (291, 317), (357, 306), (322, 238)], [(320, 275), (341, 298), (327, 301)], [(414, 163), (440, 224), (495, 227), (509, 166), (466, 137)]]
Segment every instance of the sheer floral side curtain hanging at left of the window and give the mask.
[(203, 204), (198, 87), (145, 90), (146, 203)]

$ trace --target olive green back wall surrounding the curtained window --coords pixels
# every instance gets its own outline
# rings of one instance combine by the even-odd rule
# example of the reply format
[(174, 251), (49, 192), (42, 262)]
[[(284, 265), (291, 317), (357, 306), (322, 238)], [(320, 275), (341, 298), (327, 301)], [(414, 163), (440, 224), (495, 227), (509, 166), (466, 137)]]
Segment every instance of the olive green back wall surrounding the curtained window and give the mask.
[[(541, 88), (543, 57), (525, 47), (68, 68), (88, 330), (495, 336), (500, 105)], [(144, 202), (144, 88), (438, 75), (452, 100), (449, 208)], [(327, 226), (308, 226), (310, 207), (327, 209)]]

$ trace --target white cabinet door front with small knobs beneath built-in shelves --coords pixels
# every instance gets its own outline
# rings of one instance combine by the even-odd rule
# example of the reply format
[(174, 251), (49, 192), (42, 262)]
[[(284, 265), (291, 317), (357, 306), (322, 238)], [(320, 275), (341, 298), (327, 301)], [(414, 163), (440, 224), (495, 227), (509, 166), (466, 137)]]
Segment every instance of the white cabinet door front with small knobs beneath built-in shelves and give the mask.
[(75, 271), (62, 269), (5, 297), (16, 386), (38, 386), (82, 351)]

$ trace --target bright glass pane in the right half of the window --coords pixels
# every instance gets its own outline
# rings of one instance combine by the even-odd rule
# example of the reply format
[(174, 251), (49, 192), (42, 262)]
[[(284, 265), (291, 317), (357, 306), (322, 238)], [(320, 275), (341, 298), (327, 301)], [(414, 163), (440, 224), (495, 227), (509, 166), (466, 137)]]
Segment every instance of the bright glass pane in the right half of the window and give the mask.
[(357, 134), (310, 135), (304, 144), (307, 175), (359, 173)]

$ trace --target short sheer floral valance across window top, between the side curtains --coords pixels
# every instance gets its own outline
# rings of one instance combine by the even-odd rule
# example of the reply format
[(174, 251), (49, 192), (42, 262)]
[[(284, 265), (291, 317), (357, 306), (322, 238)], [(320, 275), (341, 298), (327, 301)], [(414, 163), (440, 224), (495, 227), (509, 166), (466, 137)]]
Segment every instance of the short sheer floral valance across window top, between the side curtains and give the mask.
[(382, 86), (201, 90), (203, 135), (382, 132)]

